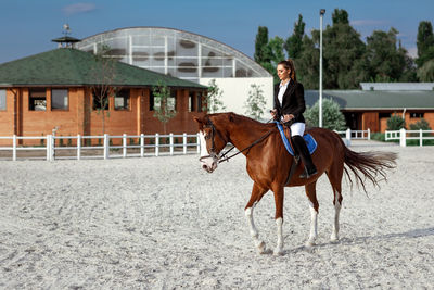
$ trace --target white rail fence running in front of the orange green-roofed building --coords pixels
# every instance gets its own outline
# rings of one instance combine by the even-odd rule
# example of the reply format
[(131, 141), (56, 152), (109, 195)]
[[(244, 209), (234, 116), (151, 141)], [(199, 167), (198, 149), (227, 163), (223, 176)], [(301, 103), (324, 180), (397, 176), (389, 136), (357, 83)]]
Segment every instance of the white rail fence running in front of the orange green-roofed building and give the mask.
[[(163, 143), (161, 142), (161, 138), (168, 139), (168, 143)], [(182, 142), (175, 142), (176, 138), (182, 138)], [(193, 139), (194, 142), (188, 142), (189, 139)], [(75, 151), (76, 154), (75, 159), (80, 160), (82, 159), (82, 152), (84, 150), (100, 150), (102, 151), (102, 155), (98, 154), (92, 154), (91, 157), (103, 157), (103, 159), (110, 159), (110, 157), (127, 157), (127, 156), (159, 156), (159, 155), (174, 155), (174, 154), (187, 154), (189, 151), (194, 152), (194, 153), (200, 153), (200, 138), (197, 134), (194, 135), (188, 135), (188, 134), (181, 134), (181, 135), (137, 135), (137, 136), (131, 136), (131, 135), (122, 135), (122, 136), (110, 136), (108, 134), (105, 134), (103, 136), (53, 136), (53, 135), (47, 135), (47, 136), (35, 136), (35, 137), (23, 137), (23, 136), (12, 136), (12, 137), (0, 137), (0, 140), (11, 140), (12, 139), (12, 147), (1, 147), (0, 146), (0, 151), (12, 151), (12, 160), (16, 161), (17, 160), (17, 151), (44, 151), (44, 159), (47, 161), (53, 161), (56, 159), (55, 153), (62, 150), (72, 150)], [(55, 140), (77, 140), (76, 146), (55, 146)], [(87, 143), (87, 139), (98, 139), (101, 140), (101, 146), (84, 146), (84, 143)], [(122, 144), (120, 146), (113, 146), (111, 144), (113, 142), (113, 139), (122, 139)], [(138, 139), (140, 140), (138, 144), (128, 144), (128, 139)], [(149, 142), (145, 143), (145, 140), (149, 139)], [(40, 140), (41, 146), (18, 146), (17, 143), (20, 140)], [(178, 140), (178, 139), (176, 139)], [(112, 142), (111, 142), (112, 141)], [(61, 142), (61, 141), (59, 141)], [(63, 143), (63, 141), (62, 141)], [(168, 152), (161, 152), (162, 148), (168, 148)], [(176, 149), (181, 149), (181, 150), (176, 150)], [(136, 149), (137, 151), (139, 150), (140, 152), (137, 152), (135, 154), (128, 153), (128, 149)], [(148, 150), (146, 150), (148, 149)], [(122, 154), (111, 154), (112, 151), (122, 151)], [(148, 151), (148, 152), (145, 152)], [(151, 152), (150, 152), (151, 151)], [(64, 157), (64, 156), (63, 156)], [(67, 156), (71, 157), (71, 156)]]

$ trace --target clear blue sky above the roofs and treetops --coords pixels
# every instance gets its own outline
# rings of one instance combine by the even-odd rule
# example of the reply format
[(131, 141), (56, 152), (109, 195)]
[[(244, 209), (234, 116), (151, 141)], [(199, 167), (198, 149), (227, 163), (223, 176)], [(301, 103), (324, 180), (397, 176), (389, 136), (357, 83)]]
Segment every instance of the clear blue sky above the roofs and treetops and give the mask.
[(412, 54), (419, 22), (434, 24), (434, 0), (0, 0), (0, 63), (54, 49), (51, 39), (62, 36), (65, 23), (76, 38), (132, 26), (177, 28), (252, 56), (258, 26), (285, 39), (302, 14), (309, 34), (319, 28), (321, 8), (324, 26), (335, 8), (345, 9), (363, 40), (375, 29), (395, 27)]

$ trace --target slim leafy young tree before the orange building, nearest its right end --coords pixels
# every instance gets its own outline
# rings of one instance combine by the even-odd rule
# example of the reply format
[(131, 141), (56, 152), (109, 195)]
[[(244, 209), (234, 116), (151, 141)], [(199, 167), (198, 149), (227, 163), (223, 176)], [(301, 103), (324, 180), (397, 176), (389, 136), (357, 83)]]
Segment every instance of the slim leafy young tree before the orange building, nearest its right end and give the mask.
[(167, 122), (177, 114), (175, 99), (170, 98), (170, 89), (162, 81), (152, 88), (152, 92), (154, 94), (154, 117), (163, 123), (164, 134), (166, 134)]

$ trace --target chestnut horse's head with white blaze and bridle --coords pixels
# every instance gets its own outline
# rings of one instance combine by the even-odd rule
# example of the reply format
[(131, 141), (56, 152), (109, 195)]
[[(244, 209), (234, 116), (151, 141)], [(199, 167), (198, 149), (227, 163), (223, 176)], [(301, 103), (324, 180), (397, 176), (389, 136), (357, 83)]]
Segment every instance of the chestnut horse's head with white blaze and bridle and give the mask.
[(218, 154), (228, 143), (228, 139), (225, 138), (221, 128), (218, 128), (219, 122), (212, 119), (212, 116), (194, 117), (194, 121), (199, 125), (201, 138), (201, 166), (212, 173), (217, 168)]

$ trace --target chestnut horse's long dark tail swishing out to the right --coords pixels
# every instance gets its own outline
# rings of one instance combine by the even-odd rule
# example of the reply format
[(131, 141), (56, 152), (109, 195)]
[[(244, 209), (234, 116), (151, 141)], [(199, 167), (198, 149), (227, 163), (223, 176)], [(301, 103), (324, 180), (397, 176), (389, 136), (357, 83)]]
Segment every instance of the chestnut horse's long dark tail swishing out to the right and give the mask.
[(387, 179), (386, 171), (396, 167), (396, 153), (393, 152), (355, 152), (344, 144), (345, 174), (353, 187), (348, 167), (356, 177), (356, 184), (361, 184), (365, 192), (367, 192), (365, 188), (366, 179), (371, 180), (374, 186), (379, 186), (379, 181)]

